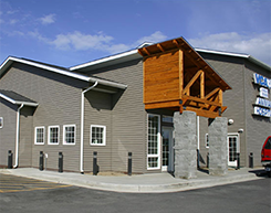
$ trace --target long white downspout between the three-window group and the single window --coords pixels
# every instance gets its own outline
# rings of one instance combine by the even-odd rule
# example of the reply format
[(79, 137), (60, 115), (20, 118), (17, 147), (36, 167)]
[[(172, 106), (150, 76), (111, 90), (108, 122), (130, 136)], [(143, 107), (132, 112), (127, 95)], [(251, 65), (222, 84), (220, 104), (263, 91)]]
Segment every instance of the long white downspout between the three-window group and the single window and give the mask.
[(85, 105), (85, 93), (97, 86), (97, 81), (81, 93), (81, 147), (80, 147), (80, 171), (84, 173), (84, 105)]

